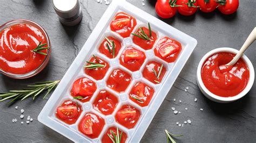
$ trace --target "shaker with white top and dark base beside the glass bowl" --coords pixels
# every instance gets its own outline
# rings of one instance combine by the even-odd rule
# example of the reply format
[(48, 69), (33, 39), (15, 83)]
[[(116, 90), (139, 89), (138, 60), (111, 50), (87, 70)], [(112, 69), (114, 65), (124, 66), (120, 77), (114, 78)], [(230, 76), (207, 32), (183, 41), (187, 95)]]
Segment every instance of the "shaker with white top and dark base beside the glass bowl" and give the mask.
[(78, 0), (52, 0), (59, 21), (66, 26), (77, 25), (83, 17)]

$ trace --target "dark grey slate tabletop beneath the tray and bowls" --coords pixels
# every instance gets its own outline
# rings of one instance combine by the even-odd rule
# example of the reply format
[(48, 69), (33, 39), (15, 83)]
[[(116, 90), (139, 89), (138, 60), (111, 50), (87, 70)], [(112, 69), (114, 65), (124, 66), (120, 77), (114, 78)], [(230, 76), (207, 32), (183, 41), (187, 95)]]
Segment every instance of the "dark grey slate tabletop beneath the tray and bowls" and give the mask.
[[(147, 1), (142, 6), (139, 0), (127, 0), (139, 8), (156, 16), (155, 1)], [(49, 65), (39, 75), (27, 80), (14, 80), (0, 75), (0, 91), (22, 88), (37, 81), (59, 80), (75, 59), (80, 48), (89, 37), (107, 5), (92, 0), (80, 2), (83, 20), (75, 27), (59, 23), (50, 0), (0, 0), (0, 24), (12, 19), (31, 19), (41, 24), (48, 32), (52, 43), (52, 56)], [(184, 133), (178, 142), (255, 142), (256, 141), (256, 84), (246, 97), (230, 104), (218, 104), (205, 98), (196, 83), (196, 70), (200, 58), (218, 47), (239, 49), (256, 25), (256, 1), (240, 1), (239, 10), (231, 16), (218, 11), (205, 14), (200, 11), (191, 17), (176, 15), (164, 22), (178, 28), (198, 40), (198, 45), (181, 71), (156, 116), (147, 129), (142, 142), (165, 142), (164, 129), (173, 133)], [(256, 67), (256, 43), (247, 49), (246, 55)], [(189, 87), (185, 92), (185, 87)], [(173, 102), (176, 98), (176, 102)], [(198, 102), (194, 102), (198, 98)], [(178, 101), (181, 100), (182, 103)], [(13, 106), (0, 103), (0, 142), (70, 142), (59, 133), (39, 123), (37, 116), (47, 101), (41, 97), (35, 101), (26, 99)], [(15, 106), (19, 110), (15, 110)], [(181, 111), (174, 115), (171, 107)], [(20, 109), (34, 121), (21, 125)], [(186, 111), (185, 108), (188, 108)], [(204, 111), (199, 109), (203, 108)], [(17, 118), (16, 124), (12, 119)], [(178, 127), (176, 122), (192, 120), (191, 125)]]

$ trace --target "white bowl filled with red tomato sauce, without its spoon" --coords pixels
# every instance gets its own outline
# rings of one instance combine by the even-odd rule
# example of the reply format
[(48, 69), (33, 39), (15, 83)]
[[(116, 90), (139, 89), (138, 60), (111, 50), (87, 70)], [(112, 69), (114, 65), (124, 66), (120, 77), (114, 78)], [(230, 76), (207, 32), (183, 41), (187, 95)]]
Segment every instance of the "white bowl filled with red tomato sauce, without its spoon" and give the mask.
[(219, 66), (230, 62), (237, 53), (237, 49), (217, 48), (205, 54), (200, 60), (197, 83), (208, 99), (230, 103), (244, 97), (252, 88), (254, 68), (246, 55), (242, 55), (230, 70), (219, 69)]

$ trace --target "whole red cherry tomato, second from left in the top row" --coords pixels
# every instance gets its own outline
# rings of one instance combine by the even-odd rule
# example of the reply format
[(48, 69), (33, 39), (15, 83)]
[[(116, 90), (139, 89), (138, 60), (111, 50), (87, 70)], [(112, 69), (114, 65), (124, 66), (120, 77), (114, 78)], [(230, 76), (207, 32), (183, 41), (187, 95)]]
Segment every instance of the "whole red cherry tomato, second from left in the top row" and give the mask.
[[(191, 0), (177, 0), (177, 5), (182, 5), (177, 7), (178, 12), (180, 15), (183, 16), (191, 16), (197, 11), (197, 2), (194, 0), (193, 2), (190, 2)], [(190, 4), (188, 4), (190, 3)]]

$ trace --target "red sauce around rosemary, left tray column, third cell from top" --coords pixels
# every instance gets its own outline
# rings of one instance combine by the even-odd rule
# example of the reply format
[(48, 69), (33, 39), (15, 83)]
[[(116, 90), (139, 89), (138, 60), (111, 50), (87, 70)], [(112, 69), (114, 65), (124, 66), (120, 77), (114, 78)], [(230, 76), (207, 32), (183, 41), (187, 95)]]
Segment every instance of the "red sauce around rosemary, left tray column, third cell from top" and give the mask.
[[(100, 63), (102, 65), (104, 65), (104, 67), (100, 67), (100, 68), (95, 68), (95, 69), (87, 69), (85, 68), (84, 69), (84, 72), (91, 76), (92, 78), (95, 78), (95, 80), (102, 80), (102, 78), (104, 78), (107, 70), (109, 69), (109, 63), (107, 63), (106, 61), (100, 59), (98, 56), (96, 56), (97, 61), (94, 57), (92, 57), (90, 59), (90, 62), (93, 62), (93, 63)], [(91, 63), (87, 63), (87, 65), (91, 65)]]

